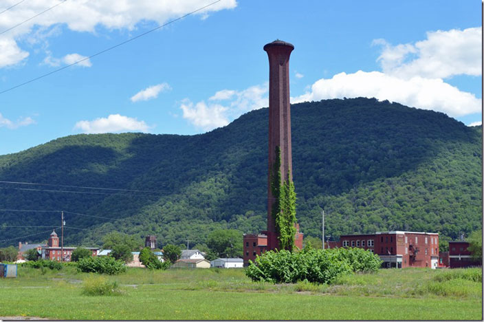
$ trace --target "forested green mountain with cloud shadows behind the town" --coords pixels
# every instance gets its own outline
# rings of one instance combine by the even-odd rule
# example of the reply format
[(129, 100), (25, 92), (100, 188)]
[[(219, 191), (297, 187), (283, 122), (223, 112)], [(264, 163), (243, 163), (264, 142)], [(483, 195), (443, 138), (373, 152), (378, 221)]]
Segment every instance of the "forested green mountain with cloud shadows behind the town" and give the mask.
[[(0, 208), (68, 211), (65, 244), (99, 245), (113, 230), (162, 245), (197, 244), (215, 228), (255, 233), (266, 225), (267, 119), (264, 108), (197, 136), (82, 134), (2, 155), (0, 180), (52, 185), (1, 183)], [(322, 208), (335, 239), (378, 230), (456, 238), (482, 226), (482, 127), (388, 101), (322, 100), (292, 105), (292, 146), (305, 235), (320, 237)], [(5, 226), (61, 222), (60, 213), (0, 215), (0, 246), (48, 229)]]

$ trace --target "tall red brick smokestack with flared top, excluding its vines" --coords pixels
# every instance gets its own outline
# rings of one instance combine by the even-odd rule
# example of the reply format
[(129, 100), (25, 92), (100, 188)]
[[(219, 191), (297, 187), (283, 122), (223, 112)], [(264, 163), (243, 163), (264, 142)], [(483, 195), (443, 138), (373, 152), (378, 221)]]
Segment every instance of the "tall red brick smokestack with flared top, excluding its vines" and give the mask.
[(267, 248), (278, 248), (270, 177), (276, 161), (276, 147), (281, 149), (281, 179), (292, 180), (291, 107), (289, 105), (289, 56), (294, 45), (273, 41), (264, 46), (269, 56), (269, 172), (267, 184)]

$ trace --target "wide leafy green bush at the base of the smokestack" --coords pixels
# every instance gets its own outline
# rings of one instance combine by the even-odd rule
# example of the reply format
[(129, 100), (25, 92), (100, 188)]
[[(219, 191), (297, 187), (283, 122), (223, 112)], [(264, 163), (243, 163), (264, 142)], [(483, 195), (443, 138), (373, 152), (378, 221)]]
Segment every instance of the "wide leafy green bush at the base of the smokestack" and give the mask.
[(270, 250), (256, 257), (255, 264), (245, 270), (253, 281), (272, 283), (331, 283), (351, 272), (375, 272), (380, 258), (359, 248), (316, 250), (305, 248), (298, 253), (288, 250)]

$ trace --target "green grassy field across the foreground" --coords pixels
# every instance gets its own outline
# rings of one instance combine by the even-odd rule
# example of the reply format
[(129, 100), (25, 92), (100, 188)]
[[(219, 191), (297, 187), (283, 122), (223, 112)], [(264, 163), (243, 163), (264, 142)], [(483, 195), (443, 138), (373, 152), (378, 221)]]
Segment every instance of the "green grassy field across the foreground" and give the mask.
[[(380, 270), (331, 286), (254, 283), (243, 270), (150, 271), (118, 276), (19, 267), (0, 279), (0, 316), (49, 319), (398, 319), (481, 320), (482, 274), (467, 270)], [(90, 284), (117, 283), (109, 296)]]

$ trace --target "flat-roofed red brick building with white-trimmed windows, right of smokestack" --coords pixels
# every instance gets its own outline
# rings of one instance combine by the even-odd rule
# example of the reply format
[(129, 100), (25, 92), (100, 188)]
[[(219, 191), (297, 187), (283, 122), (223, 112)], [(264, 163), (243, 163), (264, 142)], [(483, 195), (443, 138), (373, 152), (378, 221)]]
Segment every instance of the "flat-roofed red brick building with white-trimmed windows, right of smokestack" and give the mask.
[(342, 235), (338, 246), (368, 249), (380, 256), (384, 268), (437, 268), (439, 265), (437, 233), (388, 231), (368, 235)]

